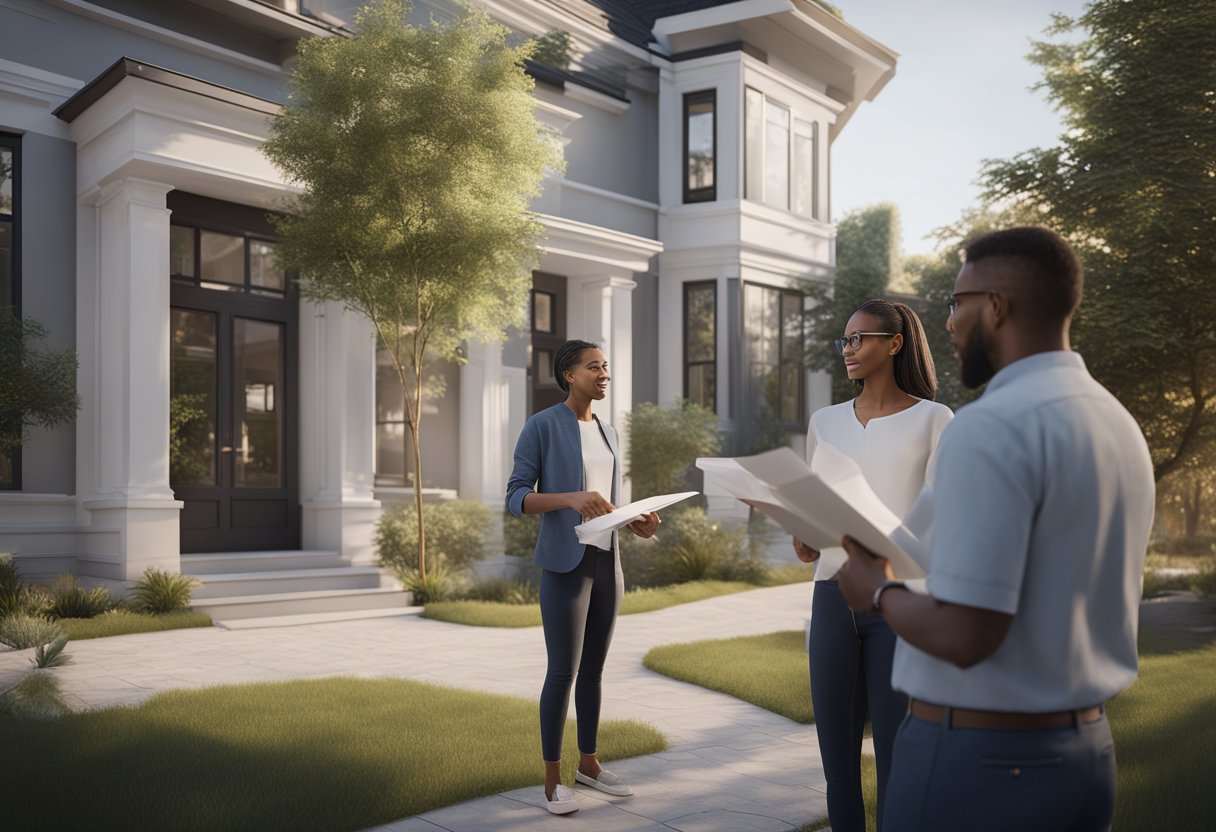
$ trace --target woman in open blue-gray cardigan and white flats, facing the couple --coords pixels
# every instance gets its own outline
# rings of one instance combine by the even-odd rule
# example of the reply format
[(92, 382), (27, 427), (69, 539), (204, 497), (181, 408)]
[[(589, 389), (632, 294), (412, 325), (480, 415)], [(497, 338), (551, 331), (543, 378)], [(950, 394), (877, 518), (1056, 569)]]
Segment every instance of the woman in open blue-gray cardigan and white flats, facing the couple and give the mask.
[[(524, 425), (507, 482), (507, 511), (541, 516), (535, 562), (541, 567), (540, 612), (548, 653), (540, 695), (541, 755), (546, 805), (564, 815), (579, 808), (574, 791), (559, 783), (562, 730), (575, 674), (575, 780), (608, 794), (634, 791), (596, 759), (599, 680), (624, 595), (617, 533), (584, 545), (574, 532), (584, 521), (613, 511), (620, 496), (617, 432), (591, 412), (591, 403), (608, 389), (608, 361), (596, 344), (568, 341), (553, 358), (553, 377), (567, 399)], [(652, 536), (658, 527), (657, 513), (629, 525), (640, 538)]]

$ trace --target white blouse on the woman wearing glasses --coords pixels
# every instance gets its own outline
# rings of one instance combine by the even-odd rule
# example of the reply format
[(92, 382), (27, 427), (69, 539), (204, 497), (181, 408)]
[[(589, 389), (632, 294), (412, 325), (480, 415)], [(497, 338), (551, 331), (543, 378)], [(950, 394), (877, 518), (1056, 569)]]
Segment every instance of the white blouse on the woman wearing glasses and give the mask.
[[(818, 445), (835, 445), (861, 467), (866, 482), (886, 507), (903, 517), (924, 488), (938, 438), (955, 414), (944, 404), (921, 399), (907, 410), (872, 418), (863, 427), (854, 401), (822, 407), (811, 415), (806, 461), (814, 459)], [(846, 558), (839, 546), (824, 549), (815, 566), (815, 580), (835, 575)]]

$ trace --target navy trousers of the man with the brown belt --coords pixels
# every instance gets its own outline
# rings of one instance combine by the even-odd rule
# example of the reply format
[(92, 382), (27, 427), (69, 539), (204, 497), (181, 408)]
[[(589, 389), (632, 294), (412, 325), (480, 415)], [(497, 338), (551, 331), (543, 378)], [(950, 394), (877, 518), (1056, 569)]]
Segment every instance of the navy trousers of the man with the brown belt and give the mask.
[(886, 832), (1099, 832), (1115, 805), (1103, 715), (1045, 731), (950, 729), (908, 716), (895, 741)]

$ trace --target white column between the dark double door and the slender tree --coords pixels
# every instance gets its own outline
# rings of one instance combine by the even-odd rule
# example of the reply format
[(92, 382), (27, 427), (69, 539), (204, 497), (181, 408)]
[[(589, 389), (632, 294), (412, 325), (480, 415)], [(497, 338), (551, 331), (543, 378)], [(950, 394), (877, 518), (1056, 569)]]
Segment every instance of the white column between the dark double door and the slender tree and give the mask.
[(375, 563), (381, 504), (376, 454), (376, 341), (338, 302), (300, 307), (300, 507), (304, 549)]

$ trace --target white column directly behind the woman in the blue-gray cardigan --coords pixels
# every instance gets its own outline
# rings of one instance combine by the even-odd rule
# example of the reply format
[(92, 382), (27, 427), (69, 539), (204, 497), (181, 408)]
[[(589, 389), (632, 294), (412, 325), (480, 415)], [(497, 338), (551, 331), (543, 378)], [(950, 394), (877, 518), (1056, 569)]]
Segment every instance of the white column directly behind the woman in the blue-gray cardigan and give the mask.
[[(608, 395), (596, 412), (620, 438), (621, 465), (629, 455), (625, 417), (634, 409), (634, 288), (629, 277), (608, 276), (572, 281), (569, 332), (601, 344), (613, 377)], [(575, 309), (576, 308), (576, 309)], [(662, 322), (660, 322), (662, 326)], [(630, 483), (621, 487), (620, 502), (629, 502)]]

